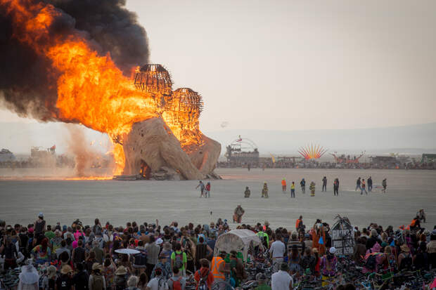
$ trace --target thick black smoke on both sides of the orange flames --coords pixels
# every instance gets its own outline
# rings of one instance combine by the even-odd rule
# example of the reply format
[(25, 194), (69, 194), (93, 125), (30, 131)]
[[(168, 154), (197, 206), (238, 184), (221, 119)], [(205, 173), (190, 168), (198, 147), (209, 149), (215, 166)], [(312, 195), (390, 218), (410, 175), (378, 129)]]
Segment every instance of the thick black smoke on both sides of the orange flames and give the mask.
[[(146, 30), (125, 0), (32, 0), (55, 6), (62, 14), (51, 25), (51, 37), (82, 34), (100, 55), (110, 53), (126, 75), (148, 62)], [(7, 4), (6, 4), (7, 5)], [(0, 1), (0, 102), (22, 117), (55, 120), (56, 73), (50, 62), (13, 37), (13, 22)], [(50, 41), (42, 39), (41, 41)]]

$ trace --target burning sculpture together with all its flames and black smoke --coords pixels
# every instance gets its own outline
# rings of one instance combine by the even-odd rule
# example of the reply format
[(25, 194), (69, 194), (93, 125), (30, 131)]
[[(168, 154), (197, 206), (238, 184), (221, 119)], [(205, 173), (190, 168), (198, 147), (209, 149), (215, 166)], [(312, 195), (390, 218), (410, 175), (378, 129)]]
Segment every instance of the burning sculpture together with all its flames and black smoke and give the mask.
[[(77, 4), (88, 6), (84, 13), (76, 2), (0, 0), (6, 106), (41, 121), (108, 133), (115, 175), (141, 171), (148, 178), (165, 168), (182, 179), (212, 173), (221, 147), (200, 132), (200, 95), (189, 88), (173, 92), (162, 65), (143, 65), (129, 75), (134, 64), (148, 62), (148, 45), (124, 1)], [(126, 46), (124, 35), (135, 40)]]

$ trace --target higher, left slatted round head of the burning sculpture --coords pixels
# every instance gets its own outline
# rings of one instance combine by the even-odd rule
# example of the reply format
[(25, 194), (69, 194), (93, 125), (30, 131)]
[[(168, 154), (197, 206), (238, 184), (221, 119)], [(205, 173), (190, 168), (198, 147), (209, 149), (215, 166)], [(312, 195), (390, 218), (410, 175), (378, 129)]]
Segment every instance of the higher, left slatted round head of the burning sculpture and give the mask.
[(172, 94), (172, 81), (169, 72), (162, 65), (143, 65), (136, 71), (134, 85), (146, 93), (159, 95)]

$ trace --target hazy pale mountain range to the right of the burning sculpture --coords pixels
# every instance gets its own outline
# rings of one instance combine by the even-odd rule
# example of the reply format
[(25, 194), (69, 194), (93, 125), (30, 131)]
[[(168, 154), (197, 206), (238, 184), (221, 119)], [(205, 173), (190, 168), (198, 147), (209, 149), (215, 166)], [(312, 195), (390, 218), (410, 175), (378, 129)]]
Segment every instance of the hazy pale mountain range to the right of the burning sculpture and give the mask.
[(204, 132), (225, 146), (238, 136), (256, 143), (260, 154), (297, 154), (298, 148), (316, 144), (328, 152), (373, 154), (389, 152), (405, 154), (436, 153), (436, 123), (386, 128), (346, 130), (225, 130)]

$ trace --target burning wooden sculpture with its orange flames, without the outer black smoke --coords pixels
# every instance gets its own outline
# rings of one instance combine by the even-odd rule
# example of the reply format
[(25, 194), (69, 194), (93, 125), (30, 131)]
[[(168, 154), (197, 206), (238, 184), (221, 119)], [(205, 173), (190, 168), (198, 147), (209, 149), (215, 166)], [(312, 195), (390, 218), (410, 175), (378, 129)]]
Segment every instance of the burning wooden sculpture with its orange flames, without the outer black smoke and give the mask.
[(70, 16), (47, 2), (55, 1), (0, 0), (14, 47), (16, 41), (32, 51), (34, 64), (41, 65), (37, 72), (49, 76), (41, 79), (37, 93), (23, 90), (41, 98), (35, 103), (38, 118), (107, 133), (114, 145), (114, 175), (142, 171), (162, 178), (158, 173), (164, 171), (164, 178), (196, 179), (211, 174), (221, 147), (198, 128), (200, 95), (187, 88), (173, 93), (162, 65), (144, 65), (132, 79), (129, 61), (121, 68), (120, 55), (101, 54), (107, 51), (103, 46), (96, 51), (95, 39), (89, 41)]

